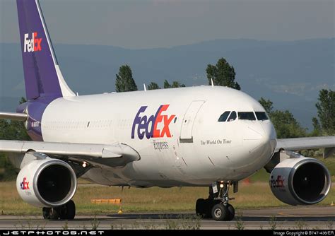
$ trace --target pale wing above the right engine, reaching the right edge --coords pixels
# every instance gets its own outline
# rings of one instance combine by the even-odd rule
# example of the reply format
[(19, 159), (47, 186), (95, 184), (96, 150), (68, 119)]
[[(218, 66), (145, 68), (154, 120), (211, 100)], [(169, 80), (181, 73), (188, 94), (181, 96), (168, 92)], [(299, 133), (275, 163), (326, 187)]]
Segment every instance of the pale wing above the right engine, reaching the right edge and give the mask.
[(276, 152), (281, 149), (299, 151), (316, 148), (324, 148), (324, 158), (329, 157), (335, 151), (335, 136), (277, 139)]

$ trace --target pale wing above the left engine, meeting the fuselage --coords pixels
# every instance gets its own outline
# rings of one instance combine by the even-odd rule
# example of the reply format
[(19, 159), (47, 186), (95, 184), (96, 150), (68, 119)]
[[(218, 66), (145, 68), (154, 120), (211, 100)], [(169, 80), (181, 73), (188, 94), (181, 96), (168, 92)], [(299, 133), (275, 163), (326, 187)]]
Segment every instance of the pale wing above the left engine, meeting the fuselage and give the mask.
[[(141, 157), (134, 148), (124, 143), (88, 144), (88, 143), (53, 143), (35, 141), (0, 141), (0, 153), (9, 153), (23, 160), (26, 153), (42, 153), (50, 158), (86, 161), (90, 165), (122, 167)], [(19, 158), (21, 157), (21, 158)], [(20, 163), (16, 165), (21, 167)]]

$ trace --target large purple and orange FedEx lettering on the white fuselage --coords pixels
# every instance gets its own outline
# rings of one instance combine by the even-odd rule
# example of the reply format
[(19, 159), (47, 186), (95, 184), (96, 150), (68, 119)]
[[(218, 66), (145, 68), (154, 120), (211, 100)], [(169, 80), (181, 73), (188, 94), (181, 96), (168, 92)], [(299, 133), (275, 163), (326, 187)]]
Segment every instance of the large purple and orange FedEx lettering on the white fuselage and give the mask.
[[(171, 137), (169, 125), (172, 122), (172, 119), (175, 118), (175, 114), (168, 116), (167, 114), (162, 114), (167, 110), (170, 105), (160, 105), (155, 115), (147, 117), (146, 115), (141, 116), (141, 113), (146, 111), (148, 106), (140, 107), (139, 112), (137, 112), (133, 127), (131, 129), (131, 138), (135, 138), (135, 129), (137, 126), (137, 136), (139, 139), (146, 138), (163, 138)], [(158, 124), (163, 124), (163, 129), (158, 129)]]

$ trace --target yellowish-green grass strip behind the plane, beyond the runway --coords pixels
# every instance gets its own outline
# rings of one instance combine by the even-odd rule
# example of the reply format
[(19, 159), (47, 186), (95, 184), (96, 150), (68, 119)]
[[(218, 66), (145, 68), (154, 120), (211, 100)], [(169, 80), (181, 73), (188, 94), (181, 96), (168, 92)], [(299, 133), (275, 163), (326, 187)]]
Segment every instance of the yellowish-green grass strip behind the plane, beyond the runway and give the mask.
[[(24, 203), (16, 191), (15, 182), (0, 183), (0, 213), (16, 215), (40, 215), (41, 209)], [(250, 184), (241, 183), (237, 194), (230, 193), (235, 197), (231, 201), (235, 208), (261, 208), (274, 206), (288, 206), (278, 201), (271, 193), (269, 185), (264, 182)], [(194, 211), (196, 199), (206, 198), (208, 188), (206, 187), (183, 187), (161, 189), (158, 187), (148, 189), (122, 189), (120, 187), (103, 187), (95, 185), (81, 185), (78, 187), (74, 201), (78, 214), (106, 214), (117, 213), (119, 207), (112, 204), (90, 203), (91, 199), (122, 199), (122, 210), (124, 212), (178, 212)], [(332, 187), (329, 196), (319, 203), (321, 206), (329, 206), (331, 201), (335, 202), (335, 187)]]

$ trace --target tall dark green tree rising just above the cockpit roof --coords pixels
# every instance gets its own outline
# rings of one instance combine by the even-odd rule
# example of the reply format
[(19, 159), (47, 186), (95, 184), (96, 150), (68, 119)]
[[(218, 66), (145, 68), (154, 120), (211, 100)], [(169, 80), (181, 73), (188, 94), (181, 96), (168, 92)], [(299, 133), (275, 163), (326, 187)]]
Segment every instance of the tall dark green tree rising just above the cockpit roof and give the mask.
[(213, 79), (214, 85), (227, 86), (241, 90), (240, 85), (235, 82), (236, 73), (234, 67), (230, 66), (223, 57), (218, 59), (215, 66), (208, 64), (206, 73), (209, 85), (211, 85), (211, 79)]

